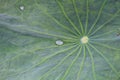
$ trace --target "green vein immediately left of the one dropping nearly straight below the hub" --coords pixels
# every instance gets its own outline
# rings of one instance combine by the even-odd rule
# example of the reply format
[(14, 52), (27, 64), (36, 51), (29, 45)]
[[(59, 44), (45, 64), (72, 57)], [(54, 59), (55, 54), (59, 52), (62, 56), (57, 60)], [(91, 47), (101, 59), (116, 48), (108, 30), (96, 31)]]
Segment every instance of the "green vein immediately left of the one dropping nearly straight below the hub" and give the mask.
[(76, 62), (76, 60), (79, 58), (80, 54), (82, 52), (82, 47), (80, 47), (80, 51), (79, 53), (77, 54), (77, 56), (73, 59), (72, 63), (70, 64), (70, 66), (67, 68), (67, 70), (65, 71), (65, 74), (64, 76), (61, 78), (61, 80), (65, 80), (66, 76), (68, 75), (71, 67), (74, 65), (74, 63)]

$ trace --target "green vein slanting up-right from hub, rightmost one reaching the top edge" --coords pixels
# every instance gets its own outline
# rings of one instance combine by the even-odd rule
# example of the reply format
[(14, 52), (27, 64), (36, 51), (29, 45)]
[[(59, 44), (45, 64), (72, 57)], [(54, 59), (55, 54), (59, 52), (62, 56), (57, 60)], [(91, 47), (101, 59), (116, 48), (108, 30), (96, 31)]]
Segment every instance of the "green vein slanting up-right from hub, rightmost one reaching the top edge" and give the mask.
[(100, 16), (101, 16), (101, 14), (102, 14), (102, 10), (103, 10), (106, 2), (107, 2), (107, 0), (104, 0), (103, 4), (102, 4), (102, 6), (101, 6), (101, 8), (100, 8), (100, 10), (99, 10), (99, 12), (98, 12), (98, 16), (97, 16), (96, 20), (94, 21), (93, 25), (91, 26), (88, 34), (91, 33), (92, 29), (95, 27), (95, 25), (97, 24), (98, 20), (100, 19)]

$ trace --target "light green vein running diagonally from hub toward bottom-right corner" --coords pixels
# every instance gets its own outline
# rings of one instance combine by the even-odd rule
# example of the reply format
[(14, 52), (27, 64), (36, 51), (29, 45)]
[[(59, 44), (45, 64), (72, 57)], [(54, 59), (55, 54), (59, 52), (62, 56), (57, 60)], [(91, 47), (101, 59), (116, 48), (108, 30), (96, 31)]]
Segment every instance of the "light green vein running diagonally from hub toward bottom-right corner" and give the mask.
[(111, 67), (111, 69), (120, 77), (120, 75), (118, 74), (117, 70), (114, 68), (114, 66), (109, 62), (109, 60), (103, 55), (102, 52), (100, 52), (97, 48), (95, 48), (93, 45), (89, 44), (98, 54), (100, 54), (104, 60), (109, 64), (109, 66)]

